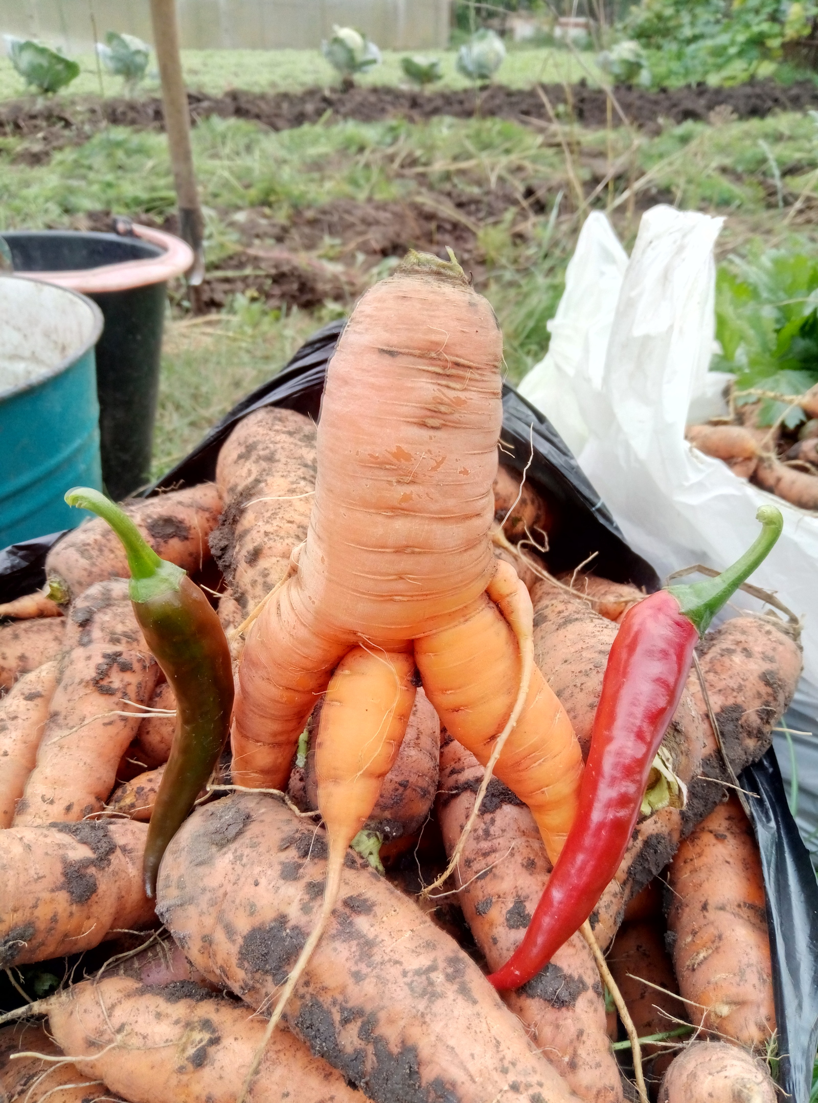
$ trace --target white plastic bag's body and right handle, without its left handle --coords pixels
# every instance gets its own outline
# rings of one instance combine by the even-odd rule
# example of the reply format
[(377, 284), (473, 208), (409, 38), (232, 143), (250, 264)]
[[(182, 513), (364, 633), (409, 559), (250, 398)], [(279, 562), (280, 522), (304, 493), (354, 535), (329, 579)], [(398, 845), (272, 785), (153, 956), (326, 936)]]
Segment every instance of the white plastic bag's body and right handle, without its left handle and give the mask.
[[(804, 618), (804, 677), (796, 704), (818, 716), (818, 517), (734, 475), (685, 440), (691, 399), (708, 393), (714, 332), (713, 244), (722, 219), (657, 206), (642, 218), (620, 292), (604, 368), (574, 371), (589, 430), (579, 461), (633, 548), (666, 575), (702, 563), (723, 568), (775, 504), (784, 532), (753, 581)], [(543, 413), (548, 416), (548, 407)]]

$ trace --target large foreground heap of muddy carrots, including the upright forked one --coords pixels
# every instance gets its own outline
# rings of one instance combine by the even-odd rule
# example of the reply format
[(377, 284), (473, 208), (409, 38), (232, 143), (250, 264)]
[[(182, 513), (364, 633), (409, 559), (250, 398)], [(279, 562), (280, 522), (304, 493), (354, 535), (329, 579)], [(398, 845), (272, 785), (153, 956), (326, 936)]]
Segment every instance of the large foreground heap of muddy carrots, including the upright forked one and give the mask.
[(176, 702), (117, 537), (84, 523), (46, 591), (0, 607), (0, 968), (26, 1000), (33, 963), (64, 974), (0, 1014), (0, 1101), (773, 1103), (735, 780), (800, 674), (773, 614), (698, 644), (586, 933), (487, 979), (582, 831), (609, 654), (646, 599), (550, 574), (559, 510), (497, 467), (501, 360), (459, 267), (410, 257), (356, 308), (317, 430), (256, 410), (215, 482), (126, 503), (207, 593), (236, 683), (155, 899)]

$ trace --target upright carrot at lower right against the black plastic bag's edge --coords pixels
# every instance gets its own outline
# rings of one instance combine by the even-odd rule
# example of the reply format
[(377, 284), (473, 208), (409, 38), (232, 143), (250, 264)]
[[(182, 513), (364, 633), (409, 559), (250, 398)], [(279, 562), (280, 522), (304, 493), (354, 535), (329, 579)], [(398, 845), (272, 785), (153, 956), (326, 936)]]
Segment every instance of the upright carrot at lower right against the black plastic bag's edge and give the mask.
[(668, 884), (674, 966), (690, 1021), (762, 1049), (775, 1030), (764, 878), (736, 796), (682, 842)]

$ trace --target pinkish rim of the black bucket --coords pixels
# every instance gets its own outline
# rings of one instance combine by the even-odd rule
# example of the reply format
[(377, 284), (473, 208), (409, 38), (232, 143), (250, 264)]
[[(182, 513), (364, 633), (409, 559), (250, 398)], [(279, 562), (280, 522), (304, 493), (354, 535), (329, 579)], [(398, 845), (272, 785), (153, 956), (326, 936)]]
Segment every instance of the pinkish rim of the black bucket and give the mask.
[[(169, 234), (164, 229), (142, 226), (133, 223), (136, 237), (155, 245), (162, 253), (158, 257), (144, 257), (141, 260), (119, 260), (112, 265), (98, 265), (96, 268), (74, 268), (66, 271), (15, 272), (23, 279), (33, 279), (41, 283), (52, 283), (68, 291), (80, 295), (104, 295), (106, 291), (130, 291), (138, 287), (149, 287), (152, 283), (164, 283), (175, 276), (181, 276), (193, 267), (193, 249), (181, 237)], [(12, 233), (11, 231), (9, 233)], [(20, 231), (18, 231), (20, 233)], [(23, 231), (31, 234), (94, 234), (95, 231)], [(108, 236), (100, 234), (101, 236)]]

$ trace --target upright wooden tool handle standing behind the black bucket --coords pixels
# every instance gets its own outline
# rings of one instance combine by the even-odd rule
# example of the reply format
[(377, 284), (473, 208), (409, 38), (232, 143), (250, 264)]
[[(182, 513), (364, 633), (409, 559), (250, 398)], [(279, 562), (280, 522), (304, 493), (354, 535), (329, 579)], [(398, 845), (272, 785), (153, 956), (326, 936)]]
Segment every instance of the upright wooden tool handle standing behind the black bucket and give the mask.
[(175, 0), (151, 0), (151, 23), (162, 81), (162, 107), (171, 150), (173, 182), (179, 200), (179, 232), (194, 253), (187, 282), (196, 287), (204, 276), (204, 219), (193, 171), (191, 120), (179, 52)]

